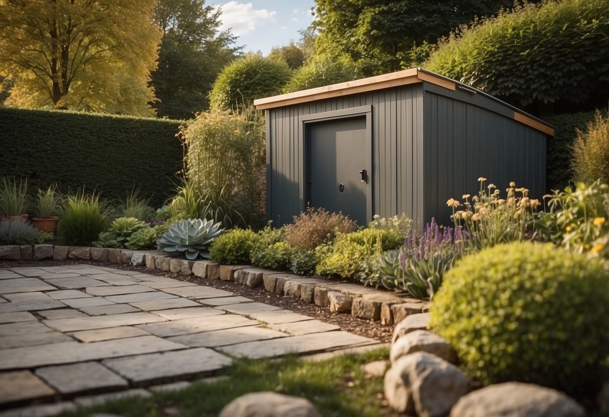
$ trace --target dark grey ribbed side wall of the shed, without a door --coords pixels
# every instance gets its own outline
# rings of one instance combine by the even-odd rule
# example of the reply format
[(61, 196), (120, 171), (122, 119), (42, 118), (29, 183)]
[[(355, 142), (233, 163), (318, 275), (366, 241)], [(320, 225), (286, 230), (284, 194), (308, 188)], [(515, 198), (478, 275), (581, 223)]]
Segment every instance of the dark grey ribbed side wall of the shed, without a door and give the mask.
[(504, 115), (445, 95), (424, 95), (424, 221), (451, 224), (449, 198), (476, 195), (478, 177), (501, 195), (510, 181), (541, 198), (546, 189), (546, 137)]

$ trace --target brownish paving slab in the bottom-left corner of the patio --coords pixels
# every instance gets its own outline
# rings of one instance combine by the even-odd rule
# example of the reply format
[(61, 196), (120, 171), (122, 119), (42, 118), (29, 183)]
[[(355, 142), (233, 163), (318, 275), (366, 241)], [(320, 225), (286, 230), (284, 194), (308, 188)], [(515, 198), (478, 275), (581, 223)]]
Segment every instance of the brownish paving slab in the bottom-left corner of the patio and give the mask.
[(30, 371), (0, 373), (0, 404), (49, 398), (54, 393), (53, 388)]

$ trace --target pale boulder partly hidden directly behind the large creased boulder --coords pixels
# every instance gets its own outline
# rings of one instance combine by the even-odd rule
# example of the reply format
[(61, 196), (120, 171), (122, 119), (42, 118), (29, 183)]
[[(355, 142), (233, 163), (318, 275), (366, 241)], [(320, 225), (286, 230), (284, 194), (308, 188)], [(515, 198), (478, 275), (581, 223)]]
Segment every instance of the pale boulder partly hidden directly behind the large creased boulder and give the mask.
[(415, 330), (396, 340), (391, 345), (391, 362), (415, 352), (431, 353), (451, 364), (457, 363), (457, 353), (451, 345), (442, 337), (427, 330)]

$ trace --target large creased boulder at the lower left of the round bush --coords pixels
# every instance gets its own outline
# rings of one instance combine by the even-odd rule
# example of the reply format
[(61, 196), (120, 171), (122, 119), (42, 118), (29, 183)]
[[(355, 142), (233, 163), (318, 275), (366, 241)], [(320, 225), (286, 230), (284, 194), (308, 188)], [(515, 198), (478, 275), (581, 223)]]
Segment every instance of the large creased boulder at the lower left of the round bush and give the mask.
[(403, 356), (385, 373), (385, 398), (400, 413), (443, 417), (468, 393), (470, 379), (456, 366), (427, 352)]

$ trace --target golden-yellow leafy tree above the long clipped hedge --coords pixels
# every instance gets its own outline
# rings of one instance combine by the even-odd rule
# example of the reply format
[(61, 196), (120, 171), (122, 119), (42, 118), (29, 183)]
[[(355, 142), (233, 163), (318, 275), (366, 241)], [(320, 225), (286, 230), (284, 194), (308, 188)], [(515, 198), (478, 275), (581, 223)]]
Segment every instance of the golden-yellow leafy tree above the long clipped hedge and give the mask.
[(156, 0), (0, 0), (7, 105), (151, 115)]

